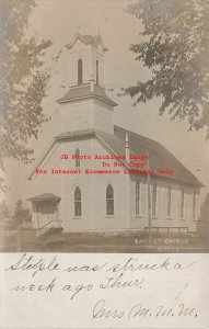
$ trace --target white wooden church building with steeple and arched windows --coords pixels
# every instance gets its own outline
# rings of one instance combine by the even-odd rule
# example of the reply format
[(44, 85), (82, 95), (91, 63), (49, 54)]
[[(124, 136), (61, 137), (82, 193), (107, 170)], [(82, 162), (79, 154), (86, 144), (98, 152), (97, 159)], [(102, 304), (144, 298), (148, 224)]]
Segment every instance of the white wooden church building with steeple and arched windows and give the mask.
[[(201, 183), (160, 143), (113, 123), (117, 105), (105, 92), (101, 36), (77, 34), (68, 44), (69, 90), (60, 105), (61, 132), (28, 174), (33, 227), (39, 234), (62, 227), (63, 231), (120, 232), (146, 230), (151, 209), (153, 230), (195, 231), (199, 216)], [(77, 155), (60, 160), (60, 155)], [(90, 158), (82, 160), (82, 155)], [(108, 155), (108, 170), (123, 156), (149, 155), (150, 168), (171, 168), (173, 174), (39, 174), (49, 170), (101, 170), (94, 155)], [(138, 159), (133, 159), (136, 163)], [(148, 207), (148, 200), (151, 207)], [(150, 203), (149, 203), (150, 204)]]

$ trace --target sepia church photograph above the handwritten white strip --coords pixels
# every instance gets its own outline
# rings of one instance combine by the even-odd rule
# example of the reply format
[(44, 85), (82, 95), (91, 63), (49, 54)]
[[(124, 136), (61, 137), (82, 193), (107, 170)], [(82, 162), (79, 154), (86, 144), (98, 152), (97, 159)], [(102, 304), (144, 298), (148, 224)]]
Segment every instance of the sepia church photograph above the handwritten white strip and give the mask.
[(0, 251), (208, 252), (209, 2), (0, 5)]

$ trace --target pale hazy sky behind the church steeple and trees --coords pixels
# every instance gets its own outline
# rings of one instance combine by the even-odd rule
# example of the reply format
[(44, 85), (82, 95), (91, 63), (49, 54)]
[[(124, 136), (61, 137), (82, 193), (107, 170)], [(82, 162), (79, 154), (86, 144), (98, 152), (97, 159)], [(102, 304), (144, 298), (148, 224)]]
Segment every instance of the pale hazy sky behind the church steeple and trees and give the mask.
[[(171, 122), (169, 116), (159, 116), (160, 100), (132, 106), (128, 97), (118, 97), (123, 87), (129, 87), (139, 79), (144, 81), (150, 71), (135, 60), (129, 52), (130, 44), (141, 41), (140, 21), (128, 14), (125, 9), (132, 0), (39, 0), (32, 13), (28, 36), (51, 39), (53, 46), (46, 56), (46, 65), (60, 50), (59, 59), (53, 64), (48, 97), (43, 101), (46, 115), (51, 121), (42, 128), (37, 140), (31, 139), (37, 159), (56, 135), (56, 100), (62, 95), (61, 86), (68, 88), (68, 49), (76, 33), (101, 34), (108, 52), (105, 54), (105, 86), (108, 95), (118, 104), (114, 112), (114, 123), (140, 135), (155, 139), (164, 145), (183, 164), (185, 164), (206, 186), (201, 200), (209, 192), (209, 141), (206, 132), (187, 132), (184, 121)], [(113, 89), (111, 91), (109, 89)], [(67, 89), (66, 89), (67, 91)], [(53, 136), (51, 136), (53, 134)], [(7, 182), (10, 191), (1, 195), (8, 203), (14, 204), (18, 198), (25, 201), (30, 194), (26, 175), (28, 166), (16, 160), (7, 161)], [(28, 195), (30, 194), (30, 195)]]

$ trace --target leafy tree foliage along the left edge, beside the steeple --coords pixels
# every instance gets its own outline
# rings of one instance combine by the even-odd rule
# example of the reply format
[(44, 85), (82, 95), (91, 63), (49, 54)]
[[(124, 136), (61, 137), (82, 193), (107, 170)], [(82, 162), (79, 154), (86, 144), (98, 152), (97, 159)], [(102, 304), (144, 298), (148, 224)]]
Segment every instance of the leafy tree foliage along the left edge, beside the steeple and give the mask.
[[(42, 100), (46, 97), (49, 69), (44, 56), (50, 41), (26, 37), (34, 0), (0, 0), (0, 168), (5, 159), (28, 163), (33, 150), (28, 138), (37, 138), (48, 118)], [(3, 188), (2, 178), (0, 188)]]

